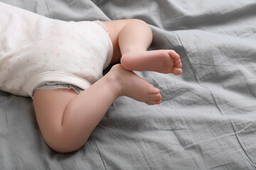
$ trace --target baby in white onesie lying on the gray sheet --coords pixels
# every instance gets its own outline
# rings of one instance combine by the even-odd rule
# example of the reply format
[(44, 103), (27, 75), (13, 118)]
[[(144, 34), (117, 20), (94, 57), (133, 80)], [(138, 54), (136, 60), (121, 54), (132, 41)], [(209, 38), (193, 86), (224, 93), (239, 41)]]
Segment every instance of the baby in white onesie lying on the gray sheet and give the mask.
[(82, 147), (119, 96), (161, 102), (131, 70), (182, 73), (174, 50), (147, 51), (151, 29), (138, 19), (66, 22), (0, 3), (0, 23), (0, 90), (33, 98), (43, 139), (57, 152)]

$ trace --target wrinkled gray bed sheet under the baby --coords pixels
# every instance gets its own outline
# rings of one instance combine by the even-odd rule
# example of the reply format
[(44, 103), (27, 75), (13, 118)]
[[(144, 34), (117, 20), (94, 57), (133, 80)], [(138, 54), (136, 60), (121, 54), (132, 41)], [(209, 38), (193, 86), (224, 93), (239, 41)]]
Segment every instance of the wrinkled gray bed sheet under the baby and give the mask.
[(176, 50), (183, 74), (136, 72), (162, 103), (117, 98), (70, 154), (43, 141), (31, 98), (0, 91), (0, 169), (256, 169), (255, 0), (1, 1), (64, 21), (142, 19), (150, 50)]

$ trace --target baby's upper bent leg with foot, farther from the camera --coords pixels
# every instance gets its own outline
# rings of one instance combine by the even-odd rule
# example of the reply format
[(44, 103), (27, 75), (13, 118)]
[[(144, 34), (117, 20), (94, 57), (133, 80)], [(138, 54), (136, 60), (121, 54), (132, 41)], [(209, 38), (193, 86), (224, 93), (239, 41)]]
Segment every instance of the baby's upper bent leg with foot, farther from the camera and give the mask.
[(110, 38), (115, 42), (114, 51), (117, 51), (115, 48), (118, 41), (122, 54), (121, 64), (125, 69), (175, 75), (182, 73), (180, 57), (174, 50), (146, 51), (151, 44), (152, 33), (144, 21), (129, 20), (125, 25), (124, 21), (114, 21), (107, 25), (110, 32), (118, 34), (118, 40), (116, 40), (117, 36), (111, 35)]

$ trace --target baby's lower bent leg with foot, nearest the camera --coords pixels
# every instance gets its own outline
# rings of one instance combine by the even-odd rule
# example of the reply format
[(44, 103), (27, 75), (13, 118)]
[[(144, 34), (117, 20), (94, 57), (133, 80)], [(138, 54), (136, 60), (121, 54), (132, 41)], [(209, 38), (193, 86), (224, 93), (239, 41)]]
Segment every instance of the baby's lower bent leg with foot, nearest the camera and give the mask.
[(38, 90), (33, 104), (46, 143), (57, 152), (73, 152), (85, 144), (117, 97), (129, 96), (153, 105), (160, 103), (159, 93), (159, 89), (117, 64), (81, 94), (66, 89)]

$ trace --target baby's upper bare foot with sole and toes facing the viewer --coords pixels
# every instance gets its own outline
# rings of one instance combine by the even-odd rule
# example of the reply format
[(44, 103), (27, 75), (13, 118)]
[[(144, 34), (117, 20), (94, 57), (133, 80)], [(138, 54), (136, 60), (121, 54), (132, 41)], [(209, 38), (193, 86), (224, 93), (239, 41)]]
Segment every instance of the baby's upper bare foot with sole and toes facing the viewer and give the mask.
[(129, 70), (172, 73), (175, 75), (182, 73), (180, 56), (174, 50), (130, 52), (122, 56), (121, 64)]

